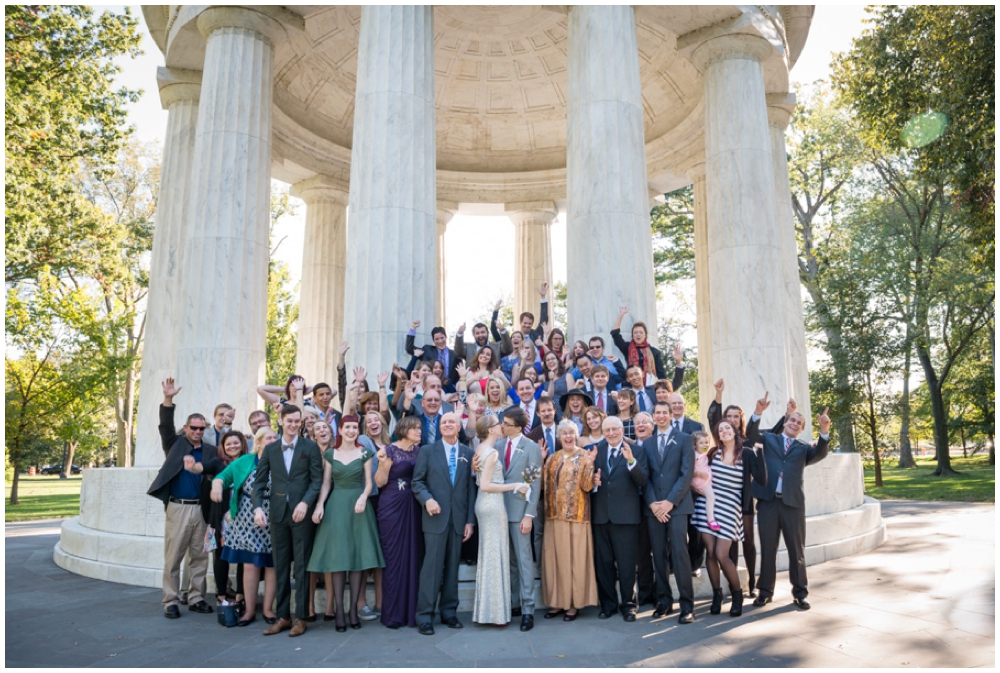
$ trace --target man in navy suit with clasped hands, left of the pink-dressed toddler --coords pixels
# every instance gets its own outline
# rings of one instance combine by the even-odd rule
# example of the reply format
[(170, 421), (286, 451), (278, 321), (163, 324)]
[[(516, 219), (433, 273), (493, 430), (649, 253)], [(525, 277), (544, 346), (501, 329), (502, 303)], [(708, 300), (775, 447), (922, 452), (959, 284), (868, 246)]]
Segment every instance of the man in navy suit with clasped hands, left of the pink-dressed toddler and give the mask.
[(694, 621), (694, 586), (688, 565), (688, 518), (694, 513), (691, 477), (694, 476), (694, 444), (691, 435), (671, 426), (670, 407), (662, 402), (653, 410), (656, 431), (643, 442), (649, 481), (643, 488), (646, 501), (646, 525), (653, 548), (653, 571), (656, 577), (654, 617), (674, 610), (668, 573), (669, 556), (673, 560), (674, 579), (680, 593), (681, 624)]

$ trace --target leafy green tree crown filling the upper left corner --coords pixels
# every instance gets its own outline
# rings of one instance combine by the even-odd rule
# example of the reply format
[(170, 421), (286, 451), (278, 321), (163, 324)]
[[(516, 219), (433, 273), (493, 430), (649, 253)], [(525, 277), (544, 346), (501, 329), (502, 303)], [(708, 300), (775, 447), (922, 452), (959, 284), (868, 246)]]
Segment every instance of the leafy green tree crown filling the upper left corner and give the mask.
[(114, 89), (118, 56), (139, 55), (138, 23), (82, 5), (4, 10), (5, 262), (8, 283), (93, 257), (109, 225), (80, 193), (79, 162), (115, 162), (140, 91)]

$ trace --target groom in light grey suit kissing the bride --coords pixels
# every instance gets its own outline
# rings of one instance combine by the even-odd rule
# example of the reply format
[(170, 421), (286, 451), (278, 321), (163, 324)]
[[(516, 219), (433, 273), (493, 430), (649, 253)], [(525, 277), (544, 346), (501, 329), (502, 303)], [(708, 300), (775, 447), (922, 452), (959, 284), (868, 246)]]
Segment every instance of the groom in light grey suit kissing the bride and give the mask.
[[(542, 469), (542, 450), (524, 436), (528, 415), (520, 407), (511, 407), (503, 414), (503, 434), (506, 441), (498, 444), (503, 461), (504, 482), (523, 483), (524, 469)], [(538, 510), (541, 494), (539, 478), (525, 500), (515, 492), (504, 494), (507, 508), (507, 527), (510, 529), (510, 592), (511, 616), (521, 615), (521, 630), (530, 631), (535, 625), (535, 563), (532, 560), (532, 523)]]

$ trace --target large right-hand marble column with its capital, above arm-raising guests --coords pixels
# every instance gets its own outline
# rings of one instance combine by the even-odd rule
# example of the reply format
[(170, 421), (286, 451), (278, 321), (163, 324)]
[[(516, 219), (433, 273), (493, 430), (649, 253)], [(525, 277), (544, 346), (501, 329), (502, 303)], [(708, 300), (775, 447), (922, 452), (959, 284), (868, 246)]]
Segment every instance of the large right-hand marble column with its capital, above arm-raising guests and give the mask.
[(725, 35), (693, 54), (705, 85), (705, 196), (712, 377), (726, 400), (752, 411), (770, 393), (763, 425), (788, 398), (785, 274), (775, 206), (761, 62), (771, 45)]

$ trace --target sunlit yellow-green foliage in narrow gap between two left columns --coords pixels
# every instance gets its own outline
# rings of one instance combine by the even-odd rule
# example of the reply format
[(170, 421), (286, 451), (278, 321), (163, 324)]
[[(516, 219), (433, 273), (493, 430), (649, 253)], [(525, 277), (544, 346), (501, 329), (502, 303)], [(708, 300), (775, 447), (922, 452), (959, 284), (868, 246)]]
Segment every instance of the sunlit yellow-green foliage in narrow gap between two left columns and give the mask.
[(298, 343), (298, 287), (292, 285), (288, 265), (275, 260), (274, 253), (284, 242), (275, 240), (275, 226), (295, 214), (295, 204), (287, 188), (271, 186), (271, 259), (267, 265), (267, 383), (284, 385), (295, 373)]

